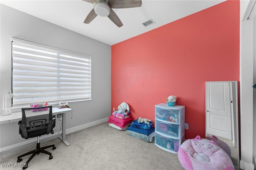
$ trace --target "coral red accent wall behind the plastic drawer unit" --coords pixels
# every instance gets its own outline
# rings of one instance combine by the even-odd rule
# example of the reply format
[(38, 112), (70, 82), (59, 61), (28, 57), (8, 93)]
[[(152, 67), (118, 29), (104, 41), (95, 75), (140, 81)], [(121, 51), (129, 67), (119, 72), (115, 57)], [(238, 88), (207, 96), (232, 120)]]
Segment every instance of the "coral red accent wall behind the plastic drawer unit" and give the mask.
[(175, 95), (185, 138), (205, 136), (205, 82), (239, 81), (239, 13), (228, 0), (112, 45), (111, 108), (125, 101), (134, 119), (154, 123), (154, 106)]

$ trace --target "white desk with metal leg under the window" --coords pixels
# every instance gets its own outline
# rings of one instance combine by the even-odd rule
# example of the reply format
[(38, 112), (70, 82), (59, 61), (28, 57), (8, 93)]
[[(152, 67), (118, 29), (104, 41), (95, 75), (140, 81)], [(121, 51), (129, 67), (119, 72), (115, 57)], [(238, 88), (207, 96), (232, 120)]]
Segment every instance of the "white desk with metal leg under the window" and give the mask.
[[(56, 107), (52, 107), (52, 115), (58, 115), (58, 114), (62, 115), (62, 138), (60, 138), (60, 140), (62, 140), (62, 142), (66, 144), (66, 146), (70, 145), (70, 143), (66, 140), (66, 112), (71, 112), (71, 111), (72, 109), (70, 108), (58, 109)], [(21, 112), (15, 112), (7, 116), (0, 116), (0, 124), (18, 122), (18, 121), (21, 121), (21, 118), (22, 118)]]

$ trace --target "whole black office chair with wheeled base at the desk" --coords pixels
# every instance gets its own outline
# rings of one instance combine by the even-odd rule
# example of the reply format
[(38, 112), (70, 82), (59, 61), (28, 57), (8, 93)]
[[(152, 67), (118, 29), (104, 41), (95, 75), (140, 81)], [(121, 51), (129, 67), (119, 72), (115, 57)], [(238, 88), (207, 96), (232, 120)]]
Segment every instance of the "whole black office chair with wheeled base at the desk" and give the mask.
[[(40, 111), (42, 110), (42, 111)], [(49, 159), (52, 159), (52, 153), (44, 149), (52, 147), (52, 150), (56, 149), (54, 144), (44, 146), (40, 148), (40, 136), (44, 134), (53, 134), (53, 128), (55, 127), (55, 116), (52, 116), (52, 106), (37, 107), (37, 108), (22, 108), (22, 120), (19, 121), (20, 135), (22, 138), (28, 139), (37, 137), (36, 149), (25, 154), (18, 156), (17, 162), (21, 162), (23, 156), (32, 154), (22, 169), (28, 168), (28, 163), (36, 154), (44, 153), (49, 155)]]

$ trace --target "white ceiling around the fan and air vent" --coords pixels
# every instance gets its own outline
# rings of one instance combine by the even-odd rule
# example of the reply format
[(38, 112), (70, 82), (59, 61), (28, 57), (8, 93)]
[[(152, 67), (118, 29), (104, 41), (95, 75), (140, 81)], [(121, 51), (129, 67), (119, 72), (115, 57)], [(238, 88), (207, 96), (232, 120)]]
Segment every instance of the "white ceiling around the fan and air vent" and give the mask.
[[(141, 7), (113, 9), (124, 24), (120, 28), (108, 17), (101, 16), (94, 18), (90, 24), (84, 24), (94, 5), (82, 0), (1, 0), (0, 3), (113, 45), (224, 1), (142, 0)], [(150, 19), (156, 24), (144, 27), (142, 23)]]

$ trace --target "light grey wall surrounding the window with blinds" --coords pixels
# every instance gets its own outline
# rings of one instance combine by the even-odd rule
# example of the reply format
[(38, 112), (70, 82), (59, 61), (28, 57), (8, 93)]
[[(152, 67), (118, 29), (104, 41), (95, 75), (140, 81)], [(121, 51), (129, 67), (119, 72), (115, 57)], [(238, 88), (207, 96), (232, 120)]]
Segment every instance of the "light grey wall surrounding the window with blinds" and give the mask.
[[(67, 132), (107, 121), (111, 106), (111, 46), (72, 32), (60, 26), (30, 16), (0, 4), (0, 103), (12, 90), (11, 38), (42, 43), (92, 56), (92, 100), (69, 103), (73, 110), (67, 114)], [(63, 18), (62, 18), (63, 19)], [(8, 100), (8, 107), (11, 101)], [(2, 109), (2, 106), (1, 106)], [(95, 122), (96, 121), (96, 122)], [(78, 127), (79, 126), (79, 127)], [(76, 128), (78, 127), (78, 128)], [(18, 134), (18, 122), (0, 125), (0, 148), (24, 142)], [(56, 128), (56, 127), (55, 127)], [(55, 130), (56, 132), (56, 130)]]

